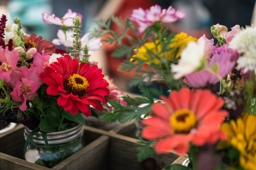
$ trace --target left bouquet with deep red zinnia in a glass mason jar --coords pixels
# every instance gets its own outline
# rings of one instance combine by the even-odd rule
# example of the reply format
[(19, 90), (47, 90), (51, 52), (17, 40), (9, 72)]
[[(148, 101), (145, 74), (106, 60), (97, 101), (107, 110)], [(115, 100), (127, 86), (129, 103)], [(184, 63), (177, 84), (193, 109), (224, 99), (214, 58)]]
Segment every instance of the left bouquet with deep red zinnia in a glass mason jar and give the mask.
[[(9, 14), (0, 19), (0, 129), (10, 122), (22, 123), (25, 126), (25, 150), (31, 151), (25, 153), (25, 157), (36, 152), (32, 162), (52, 167), (77, 151), (74, 140), (83, 133), (83, 116), (97, 117), (94, 109), (109, 112), (112, 105), (108, 102), (118, 102), (121, 93), (96, 63), (88, 61), (89, 52), (101, 47), (101, 39), (90, 38), (89, 34), (81, 37), (82, 16), (79, 13), (69, 9), (63, 18), (46, 13), (42, 17), (45, 23), (60, 26), (59, 39), (54, 39), (53, 43), (62, 44), (66, 49), (58, 49), (41, 36), (24, 34), (17, 17), (14, 23)], [(48, 158), (44, 161), (49, 157), (47, 152), (54, 152), (49, 145), (56, 144), (51, 141), (53, 136), (50, 139), (47, 136), (60, 131), (71, 135), (69, 133), (74, 131), (70, 129), (78, 131), (75, 138), (69, 136), (73, 143), (64, 145), (62, 142), (58, 146), (62, 150), (51, 155), (53, 159), (59, 155), (61, 160), (58, 157), (57, 162)], [(41, 136), (35, 141), (37, 135)], [(56, 138), (59, 140), (60, 136)], [(30, 144), (38, 148), (27, 147)], [(39, 145), (48, 149), (47, 152), (43, 152)]]

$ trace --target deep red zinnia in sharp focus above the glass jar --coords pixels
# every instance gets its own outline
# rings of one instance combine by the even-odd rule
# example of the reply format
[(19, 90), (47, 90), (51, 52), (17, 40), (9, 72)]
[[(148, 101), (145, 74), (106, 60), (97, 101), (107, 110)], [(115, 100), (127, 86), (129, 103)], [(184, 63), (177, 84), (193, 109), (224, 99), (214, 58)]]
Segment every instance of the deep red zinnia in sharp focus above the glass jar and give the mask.
[(71, 114), (77, 114), (80, 110), (85, 116), (91, 116), (87, 104), (102, 111), (100, 102), (105, 102), (104, 96), (109, 94), (109, 84), (103, 79), (102, 70), (89, 63), (81, 63), (79, 66), (78, 59), (72, 60), (70, 55), (57, 60), (45, 68), (46, 73), (39, 76), (49, 86), (47, 94), (60, 94), (58, 105)]

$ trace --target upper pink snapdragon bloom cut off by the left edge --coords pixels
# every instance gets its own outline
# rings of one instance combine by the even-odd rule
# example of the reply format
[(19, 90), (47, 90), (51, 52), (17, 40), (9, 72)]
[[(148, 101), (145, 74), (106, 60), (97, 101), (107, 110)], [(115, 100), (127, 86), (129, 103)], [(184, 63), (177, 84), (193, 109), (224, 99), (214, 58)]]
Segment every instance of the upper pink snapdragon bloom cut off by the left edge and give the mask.
[(16, 65), (19, 61), (19, 54), (12, 50), (9, 51), (8, 47), (5, 50), (0, 47), (0, 79), (8, 83), (11, 81), (10, 74), (16, 69)]

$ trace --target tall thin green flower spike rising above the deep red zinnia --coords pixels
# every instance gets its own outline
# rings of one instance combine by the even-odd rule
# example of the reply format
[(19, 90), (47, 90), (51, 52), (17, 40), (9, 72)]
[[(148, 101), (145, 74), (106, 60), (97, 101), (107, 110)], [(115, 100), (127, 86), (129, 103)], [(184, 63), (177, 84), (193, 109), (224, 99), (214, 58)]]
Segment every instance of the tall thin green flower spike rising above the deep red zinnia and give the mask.
[(75, 17), (73, 24), (74, 26), (72, 28), (75, 34), (73, 34), (72, 37), (75, 39), (73, 41), (74, 49), (71, 50), (71, 53), (74, 54), (74, 58), (77, 58), (77, 55), (79, 55), (81, 51), (81, 41), (79, 40), (79, 37), (82, 35), (82, 31), (80, 30), (81, 18), (79, 16)]

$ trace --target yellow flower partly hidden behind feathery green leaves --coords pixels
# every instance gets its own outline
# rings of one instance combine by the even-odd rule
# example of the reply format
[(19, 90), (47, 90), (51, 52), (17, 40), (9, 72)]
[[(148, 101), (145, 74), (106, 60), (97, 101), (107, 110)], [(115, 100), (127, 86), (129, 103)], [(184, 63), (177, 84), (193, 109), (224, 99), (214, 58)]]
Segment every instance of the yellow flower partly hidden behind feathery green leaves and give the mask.
[[(151, 62), (160, 65), (161, 61), (159, 58), (162, 58), (164, 55), (169, 63), (172, 63), (172, 60), (178, 58), (182, 52), (182, 50), (186, 47), (187, 43), (190, 41), (197, 41), (196, 38), (191, 36), (187, 36), (186, 33), (181, 32), (180, 34), (175, 35), (175, 37), (171, 40), (167, 46), (167, 49), (171, 49), (165, 52), (162, 52), (162, 43), (159, 43), (159, 40), (154, 42), (145, 43), (140, 49), (135, 49), (137, 54), (133, 55), (130, 61), (137, 60), (144, 61), (144, 64), (151, 64)], [(150, 51), (150, 52), (149, 52)], [(158, 56), (158, 57), (156, 57)], [(151, 58), (153, 57), (153, 60)]]

